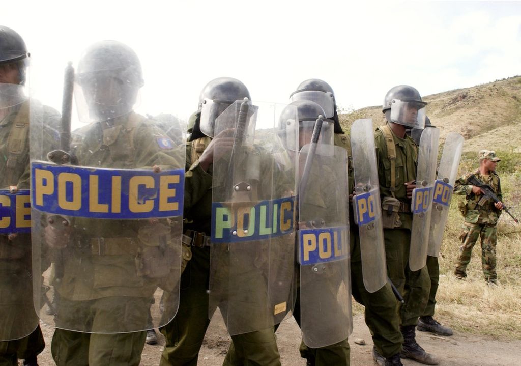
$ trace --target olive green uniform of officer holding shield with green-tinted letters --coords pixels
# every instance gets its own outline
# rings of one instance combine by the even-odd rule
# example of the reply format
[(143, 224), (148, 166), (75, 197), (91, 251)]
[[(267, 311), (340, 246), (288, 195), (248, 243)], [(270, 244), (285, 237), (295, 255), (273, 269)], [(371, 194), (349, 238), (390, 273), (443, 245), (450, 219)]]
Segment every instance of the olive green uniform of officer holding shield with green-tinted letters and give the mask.
[[(213, 165), (205, 172), (198, 158), (210, 142), (203, 137), (187, 143), (184, 191), (184, 233), (192, 237), (192, 259), (181, 276), (179, 309), (161, 328), (165, 348), (160, 365), (196, 365), (209, 324), (208, 282)], [(255, 316), (255, 314), (252, 314)], [(280, 365), (274, 328), (233, 335), (226, 365)]]

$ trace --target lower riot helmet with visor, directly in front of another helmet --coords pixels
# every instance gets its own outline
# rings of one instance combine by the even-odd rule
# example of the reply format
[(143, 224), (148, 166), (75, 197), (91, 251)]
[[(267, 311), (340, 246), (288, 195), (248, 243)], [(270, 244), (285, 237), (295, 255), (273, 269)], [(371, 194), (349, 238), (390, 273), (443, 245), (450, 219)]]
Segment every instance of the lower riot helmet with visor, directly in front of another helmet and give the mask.
[[(279, 130), (284, 146), (291, 151), (299, 151), (303, 145), (310, 143), (319, 116), (324, 118), (324, 109), (312, 101), (296, 100), (286, 106), (279, 118)], [(332, 145), (333, 133), (333, 122), (324, 118), (318, 143)]]

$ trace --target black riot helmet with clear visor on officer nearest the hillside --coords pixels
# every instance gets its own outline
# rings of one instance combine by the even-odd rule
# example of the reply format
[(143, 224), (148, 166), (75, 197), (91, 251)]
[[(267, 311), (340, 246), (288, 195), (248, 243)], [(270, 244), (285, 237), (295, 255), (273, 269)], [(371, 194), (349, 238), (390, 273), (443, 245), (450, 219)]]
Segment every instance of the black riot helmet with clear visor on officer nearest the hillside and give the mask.
[(387, 92), (383, 99), (382, 113), (389, 122), (423, 130), (426, 105), (415, 88), (399, 85)]

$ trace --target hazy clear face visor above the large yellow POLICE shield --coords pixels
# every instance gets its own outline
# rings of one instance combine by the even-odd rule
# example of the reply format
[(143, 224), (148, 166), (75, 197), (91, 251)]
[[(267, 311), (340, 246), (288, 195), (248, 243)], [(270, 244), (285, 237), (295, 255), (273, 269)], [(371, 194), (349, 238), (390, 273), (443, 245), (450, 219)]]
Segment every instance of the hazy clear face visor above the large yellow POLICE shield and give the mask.
[(139, 88), (108, 72), (75, 77), (74, 95), (78, 118), (83, 123), (113, 119), (128, 114), (138, 100)]

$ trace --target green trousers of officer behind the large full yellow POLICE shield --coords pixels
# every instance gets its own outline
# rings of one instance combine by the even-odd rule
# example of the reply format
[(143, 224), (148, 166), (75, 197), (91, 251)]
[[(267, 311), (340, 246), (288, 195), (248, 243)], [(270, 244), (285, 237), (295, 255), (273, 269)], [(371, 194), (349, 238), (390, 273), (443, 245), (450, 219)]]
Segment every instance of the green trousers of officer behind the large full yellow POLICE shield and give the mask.
[[(118, 332), (125, 326), (118, 322), (126, 318), (132, 328), (141, 324), (145, 329), (149, 307), (150, 299), (144, 297), (120, 296), (91, 301), (61, 297), (56, 325), (67, 328), (81, 324), (85, 330)], [(51, 353), (57, 366), (139, 366), (145, 338), (146, 331), (91, 334), (57, 328)]]

